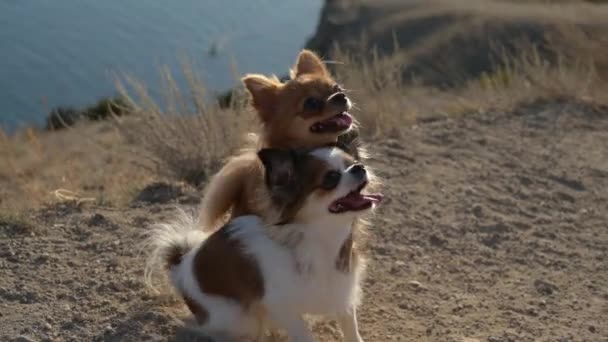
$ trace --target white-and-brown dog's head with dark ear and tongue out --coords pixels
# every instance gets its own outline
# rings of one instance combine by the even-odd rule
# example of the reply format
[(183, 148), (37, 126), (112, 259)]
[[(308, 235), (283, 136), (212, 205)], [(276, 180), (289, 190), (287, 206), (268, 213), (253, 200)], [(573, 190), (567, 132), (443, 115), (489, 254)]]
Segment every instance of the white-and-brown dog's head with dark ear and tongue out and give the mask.
[(258, 157), (282, 222), (314, 223), (328, 217), (352, 220), (382, 200), (381, 194), (364, 193), (373, 176), (340, 148), (266, 148)]

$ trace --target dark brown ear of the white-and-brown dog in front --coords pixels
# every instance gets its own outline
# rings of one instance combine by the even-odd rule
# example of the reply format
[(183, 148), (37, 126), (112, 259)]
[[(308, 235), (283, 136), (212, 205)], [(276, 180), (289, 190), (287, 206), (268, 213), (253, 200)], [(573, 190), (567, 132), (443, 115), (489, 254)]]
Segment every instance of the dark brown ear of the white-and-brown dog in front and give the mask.
[(266, 186), (274, 201), (291, 202), (297, 192), (296, 156), (293, 151), (280, 148), (264, 148), (258, 151), (264, 165)]

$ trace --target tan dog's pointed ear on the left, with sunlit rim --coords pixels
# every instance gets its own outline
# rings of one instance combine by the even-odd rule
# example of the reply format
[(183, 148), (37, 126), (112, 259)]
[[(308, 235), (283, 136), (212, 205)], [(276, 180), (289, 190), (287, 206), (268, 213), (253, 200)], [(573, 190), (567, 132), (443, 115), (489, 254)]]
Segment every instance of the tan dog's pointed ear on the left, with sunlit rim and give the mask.
[(252, 105), (258, 111), (260, 119), (266, 122), (275, 111), (281, 82), (259, 74), (245, 75), (241, 81), (251, 94)]

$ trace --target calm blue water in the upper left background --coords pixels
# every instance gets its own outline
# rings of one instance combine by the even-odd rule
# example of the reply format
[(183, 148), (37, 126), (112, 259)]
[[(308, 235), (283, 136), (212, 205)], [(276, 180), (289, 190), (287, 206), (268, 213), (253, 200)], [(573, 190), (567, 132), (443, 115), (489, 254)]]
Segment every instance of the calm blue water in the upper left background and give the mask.
[[(117, 74), (160, 88), (159, 68), (194, 61), (215, 90), (239, 73), (284, 73), (322, 0), (0, 0), (0, 127), (116, 93)], [(210, 53), (210, 50), (217, 54)]]

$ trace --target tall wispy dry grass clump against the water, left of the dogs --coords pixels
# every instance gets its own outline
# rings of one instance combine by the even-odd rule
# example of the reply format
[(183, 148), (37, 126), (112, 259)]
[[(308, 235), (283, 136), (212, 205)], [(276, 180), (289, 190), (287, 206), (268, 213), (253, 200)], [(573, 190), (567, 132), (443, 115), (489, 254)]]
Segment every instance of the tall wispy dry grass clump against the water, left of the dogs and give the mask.
[(209, 101), (204, 83), (191, 64), (185, 64), (183, 71), (188, 81), (187, 94), (163, 69), (164, 108), (141, 82), (131, 77), (119, 81), (120, 92), (135, 109), (119, 127), (127, 141), (144, 152), (143, 157), (152, 164), (150, 171), (198, 186), (240, 146), (253, 116), (245, 113), (238, 96), (228, 109), (220, 109)]

